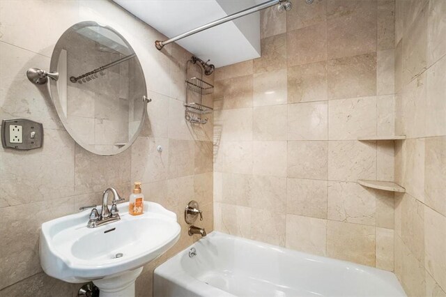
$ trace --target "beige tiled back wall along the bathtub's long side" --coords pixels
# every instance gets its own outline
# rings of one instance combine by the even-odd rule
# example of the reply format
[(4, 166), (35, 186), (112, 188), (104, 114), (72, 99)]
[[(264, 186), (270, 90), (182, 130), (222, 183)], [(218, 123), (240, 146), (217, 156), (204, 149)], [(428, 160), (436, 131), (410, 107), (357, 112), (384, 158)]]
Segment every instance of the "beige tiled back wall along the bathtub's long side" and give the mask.
[(394, 1), (293, 0), (215, 72), (215, 229), (393, 271)]

